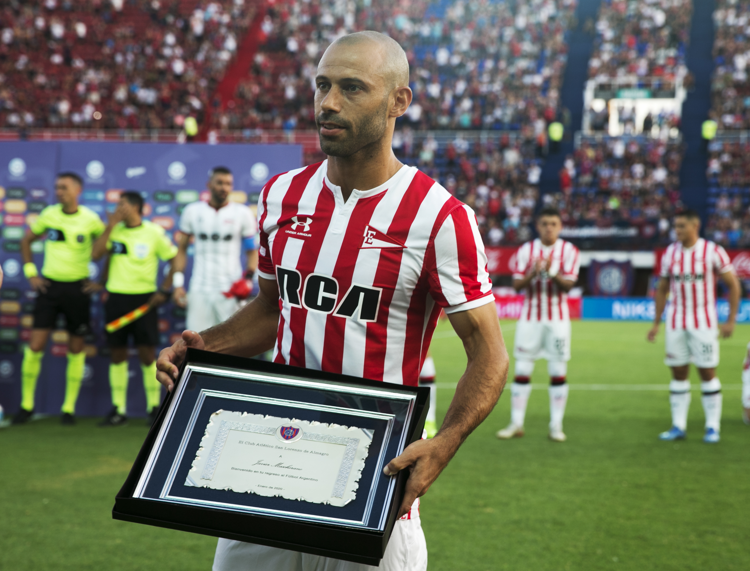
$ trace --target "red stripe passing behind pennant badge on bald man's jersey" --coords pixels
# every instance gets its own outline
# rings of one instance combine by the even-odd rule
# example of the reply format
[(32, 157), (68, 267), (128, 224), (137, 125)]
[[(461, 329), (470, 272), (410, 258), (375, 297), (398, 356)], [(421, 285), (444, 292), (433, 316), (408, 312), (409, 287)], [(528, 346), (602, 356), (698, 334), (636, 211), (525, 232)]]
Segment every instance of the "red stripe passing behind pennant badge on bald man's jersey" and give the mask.
[[(408, 190), (404, 193), (404, 197), (401, 198), (401, 203), (396, 208), (391, 225), (381, 230), (384, 230), (392, 238), (406, 244), (409, 237), (409, 230), (414, 223), (417, 212), (419, 212), (419, 206), (422, 204), (422, 200), (425, 200), (428, 191), (430, 191), (433, 185), (434, 180), (422, 172), (416, 173)], [(373, 285), (374, 287), (383, 287), (383, 294), (380, 298), (380, 310), (378, 311), (377, 321), (375, 323), (368, 323), (368, 330), (365, 337), (365, 367), (363, 376), (368, 379), (383, 380), (383, 370), (386, 366), (386, 347), (388, 344), (388, 320), (393, 293), (398, 283), (399, 272), (401, 271), (401, 258), (403, 256), (404, 250), (401, 248), (385, 248), (380, 250), (380, 259), (375, 271)], [(425, 252), (425, 264), (428, 263), (428, 257), (430, 256), (434, 263), (434, 249)], [(412, 295), (415, 295), (415, 293)], [(419, 377), (419, 372), (417, 376)]]

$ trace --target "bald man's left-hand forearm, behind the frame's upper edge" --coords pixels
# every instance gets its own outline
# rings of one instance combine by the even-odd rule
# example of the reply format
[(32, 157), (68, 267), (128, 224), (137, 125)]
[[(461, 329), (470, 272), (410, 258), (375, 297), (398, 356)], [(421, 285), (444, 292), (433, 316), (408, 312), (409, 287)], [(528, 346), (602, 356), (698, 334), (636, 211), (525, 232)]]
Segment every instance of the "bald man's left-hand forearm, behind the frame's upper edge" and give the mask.
[(228, 320), (200, 335), (208, 351), (251, 357), (272, 349), (278, 323), (278, 305), (257, 296)]

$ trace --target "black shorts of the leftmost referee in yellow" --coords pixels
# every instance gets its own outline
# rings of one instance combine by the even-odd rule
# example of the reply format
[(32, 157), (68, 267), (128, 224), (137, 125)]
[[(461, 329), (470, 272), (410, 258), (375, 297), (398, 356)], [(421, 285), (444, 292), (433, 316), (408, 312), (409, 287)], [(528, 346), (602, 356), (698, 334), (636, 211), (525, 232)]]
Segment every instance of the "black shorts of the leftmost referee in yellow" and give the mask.
[(34, 329), (53, 329), (59, 314), (65, 315), (65, 329), (71, 335), (86, 335), (91, 297), (83, 293), (83, 280), (49, 281), (46, 292), (39, 292), (34, 303)]

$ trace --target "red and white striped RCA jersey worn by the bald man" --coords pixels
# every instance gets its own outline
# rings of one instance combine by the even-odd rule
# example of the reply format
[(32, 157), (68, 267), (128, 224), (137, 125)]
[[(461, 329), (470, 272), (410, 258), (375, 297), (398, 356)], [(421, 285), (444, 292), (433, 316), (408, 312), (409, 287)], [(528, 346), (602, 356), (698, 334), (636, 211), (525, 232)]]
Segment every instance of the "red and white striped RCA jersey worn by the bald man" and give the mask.
[(416, 386), (440, 310), (493, 302), (474, 213), (415, 167), (346, 202), (327, 169), (275, 176), (259, 200), (274, 360)]

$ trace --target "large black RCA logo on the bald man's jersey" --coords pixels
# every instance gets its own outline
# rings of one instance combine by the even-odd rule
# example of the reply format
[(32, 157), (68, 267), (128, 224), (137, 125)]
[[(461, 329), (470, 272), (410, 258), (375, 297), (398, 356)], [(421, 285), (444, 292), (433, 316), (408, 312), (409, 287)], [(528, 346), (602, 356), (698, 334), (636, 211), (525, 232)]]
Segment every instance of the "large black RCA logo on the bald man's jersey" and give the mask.
[(383, 293), (380, 287), (352, 284), (338, 302), (338, 281), (329, 275), (310, 274), (305, 278), (305, 287), (302, 287), (302, 274), (299, 271), (276, 266), (276, 280), (281, 300), (293, 307), (323, 314), (333, 313), (357, 321), (377, 321)]

